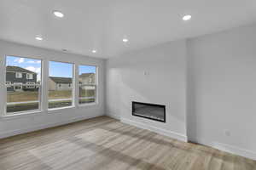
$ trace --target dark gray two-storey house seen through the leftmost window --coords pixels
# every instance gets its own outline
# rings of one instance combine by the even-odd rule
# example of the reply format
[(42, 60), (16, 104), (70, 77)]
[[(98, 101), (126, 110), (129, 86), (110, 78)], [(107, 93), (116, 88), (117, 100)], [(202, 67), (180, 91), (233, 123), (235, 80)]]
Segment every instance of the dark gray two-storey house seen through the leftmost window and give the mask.
[(8, 91), (35, 90), (37, 73), (19, 66), (7, 66), (5, 83)]

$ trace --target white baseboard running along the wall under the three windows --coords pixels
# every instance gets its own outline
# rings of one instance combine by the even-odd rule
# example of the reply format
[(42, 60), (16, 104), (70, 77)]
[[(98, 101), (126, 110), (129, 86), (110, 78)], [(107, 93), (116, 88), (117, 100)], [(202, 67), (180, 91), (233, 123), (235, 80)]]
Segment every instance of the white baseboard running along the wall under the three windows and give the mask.
[(9, 132), (6, 132), (6, 133), (0, 133), (0, 139), (8, 138), (8, 137), (15, 136), (15, 135), (22, 134), (22, 133), (34, 132), (34, 131), (38, 131), (38, 130), (41, 130), (41, 129), (44, 129), (44, 128), (58, 127), (58, 126), (65, 125), (65, 124), (68, 124), (68, 123), (79, 122), (79, 121), (83, 121), (83, 120), (94, 118), (94, 117), (97, 117), (97, 116), (79, 116), (79, 117), (74, 117), (74, 118), (72, 118), (70, 120), (67, 120), (67, 121), (64, 121), (64, 122), (49, 123), (49, 124), (40, 125), (40, 126), (37, 126), (37, 127), (17, 129), (17, 130), (9, 131)]

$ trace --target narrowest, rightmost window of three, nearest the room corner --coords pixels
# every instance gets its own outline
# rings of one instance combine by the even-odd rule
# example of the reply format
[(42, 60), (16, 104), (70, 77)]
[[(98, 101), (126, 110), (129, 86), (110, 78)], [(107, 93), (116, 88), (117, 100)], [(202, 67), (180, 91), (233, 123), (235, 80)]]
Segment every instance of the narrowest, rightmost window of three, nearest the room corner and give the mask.
[(79, 104), (96, 102), (96, 66), (79, 65)]

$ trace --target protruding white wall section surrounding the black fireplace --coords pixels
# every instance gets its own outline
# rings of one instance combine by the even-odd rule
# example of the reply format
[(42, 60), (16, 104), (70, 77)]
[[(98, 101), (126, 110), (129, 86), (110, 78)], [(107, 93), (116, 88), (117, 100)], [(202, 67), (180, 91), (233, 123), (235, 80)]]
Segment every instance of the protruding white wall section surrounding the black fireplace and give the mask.
[[(178, 41), (108, 59), (108, 115), (186, 140), (185, 58), (186, 43)], [(166, 105), (166, 123), (131, 116), (131, 101)]]

